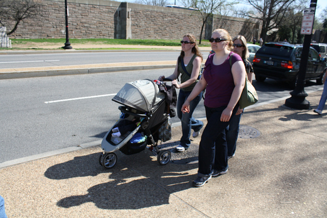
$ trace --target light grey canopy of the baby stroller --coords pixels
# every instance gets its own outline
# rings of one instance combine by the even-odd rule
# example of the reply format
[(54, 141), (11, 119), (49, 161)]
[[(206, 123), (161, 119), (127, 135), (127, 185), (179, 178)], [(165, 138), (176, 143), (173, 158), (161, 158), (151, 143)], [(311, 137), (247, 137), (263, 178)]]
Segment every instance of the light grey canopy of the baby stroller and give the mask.
[(165, 93), (159, 91), (158, 85), (152, 80), (145, 79), (126, 83), (112, 101), (142, 112), (153, 112), (155, 106), (163, 99)]

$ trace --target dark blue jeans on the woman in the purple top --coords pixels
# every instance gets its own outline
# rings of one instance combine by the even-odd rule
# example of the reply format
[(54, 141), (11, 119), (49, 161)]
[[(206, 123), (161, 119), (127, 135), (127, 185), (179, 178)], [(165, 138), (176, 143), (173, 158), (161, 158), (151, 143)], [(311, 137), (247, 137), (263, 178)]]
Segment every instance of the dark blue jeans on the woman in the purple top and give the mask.
[(228, 168), (225, 129), (237, 112), (238, 105), (233, 110), (229, 121), (221, 122), (220, 117), (225, 108), (226, 106), (218, 108), (205, 107), (207, 125), (203, 130), (199, 146), (198, 176), (211, 175), (214, 169), (225, 171)]

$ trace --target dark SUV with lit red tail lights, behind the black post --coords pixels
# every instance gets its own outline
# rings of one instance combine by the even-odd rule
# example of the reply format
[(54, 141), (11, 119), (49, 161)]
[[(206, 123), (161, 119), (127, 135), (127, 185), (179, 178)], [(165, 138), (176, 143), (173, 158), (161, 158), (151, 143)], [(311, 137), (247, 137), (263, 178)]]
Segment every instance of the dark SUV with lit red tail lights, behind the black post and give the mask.
[[(253, 70), (255, 79), (263, 82), (266, 78), (286, 81), (295, 88), (299, 72), (303, 45), (283, 42), (269, 42), (255, 53)], [(316, 80), (322, 84), (326, 58), (320, 58), (316, 50), (310, 47), (306, 80)]]

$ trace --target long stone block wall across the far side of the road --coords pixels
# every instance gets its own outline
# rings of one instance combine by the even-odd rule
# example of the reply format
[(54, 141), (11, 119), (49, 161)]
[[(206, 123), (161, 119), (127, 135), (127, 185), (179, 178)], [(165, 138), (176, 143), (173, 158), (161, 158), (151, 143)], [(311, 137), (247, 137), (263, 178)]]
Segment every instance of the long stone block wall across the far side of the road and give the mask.
[[(41, 4), (39, 16), (25, 20), (12, 38), (65, 38), (64, 0), (33, 0)], [(199, 13), (184, 9), (120, 3), (108, 0), (68, 0), (69, 38), (180, 39), (191, 33), (199, 39), (202, 19)], [(13, 22), (4, 22), (11, 30)], [(204, 30), (223, 28), (231, 36), (253, 38), (253, 21), (215, 15)], [(202, 38), (211, 34), (204, 33)], [(259, 31), (259, 30), (258, 30)], [(250, 40), (249, 40), (250, 41)]]

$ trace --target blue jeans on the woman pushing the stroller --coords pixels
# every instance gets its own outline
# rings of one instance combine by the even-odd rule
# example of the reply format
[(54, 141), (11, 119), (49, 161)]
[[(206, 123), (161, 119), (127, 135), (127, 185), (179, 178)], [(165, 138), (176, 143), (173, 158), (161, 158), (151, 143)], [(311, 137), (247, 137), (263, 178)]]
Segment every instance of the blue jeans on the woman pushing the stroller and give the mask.
[(192, 116), (196, 106), (201, 101), (202, 92), (190, 102), (189, 113), (183, 113), (181, 111), (182, 106), (185, 100), (190, 95), (190, 93), (191, 91), (179, 90), (178, 100), (177, 100), (177, 116), (182, 123), (182, 137), (180, 138), (180, 145), (183, 146), (185, 149), (188, 149), (191, 146), (191, 140), (190, 140), (191, 129), (197, 132), (203, 127), (203, 122), (201, 120), (195, 119)]

